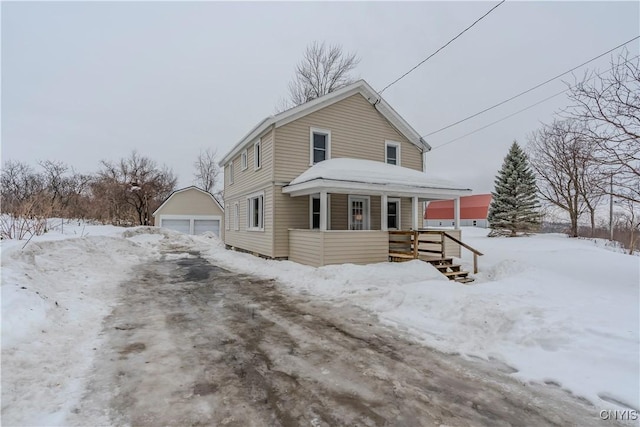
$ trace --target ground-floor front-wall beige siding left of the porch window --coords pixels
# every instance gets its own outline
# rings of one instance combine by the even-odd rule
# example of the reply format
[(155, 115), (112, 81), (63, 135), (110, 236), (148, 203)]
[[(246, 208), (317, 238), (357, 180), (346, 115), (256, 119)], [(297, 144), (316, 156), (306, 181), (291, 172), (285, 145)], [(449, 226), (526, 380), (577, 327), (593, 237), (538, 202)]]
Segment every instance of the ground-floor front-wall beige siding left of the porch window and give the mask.
[(310, 227), (309, 196), (291, 197), (276, 186), (274, 206), (274, 257), (284, 258), (289, 256), (289, 229)]

